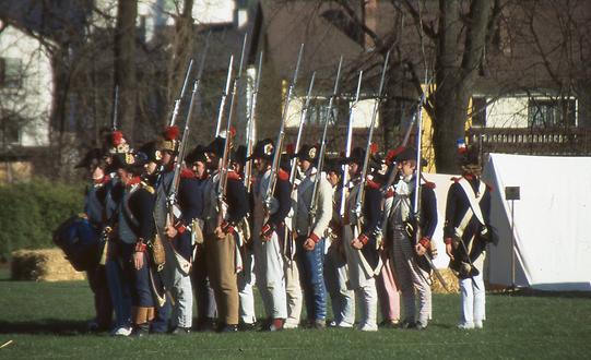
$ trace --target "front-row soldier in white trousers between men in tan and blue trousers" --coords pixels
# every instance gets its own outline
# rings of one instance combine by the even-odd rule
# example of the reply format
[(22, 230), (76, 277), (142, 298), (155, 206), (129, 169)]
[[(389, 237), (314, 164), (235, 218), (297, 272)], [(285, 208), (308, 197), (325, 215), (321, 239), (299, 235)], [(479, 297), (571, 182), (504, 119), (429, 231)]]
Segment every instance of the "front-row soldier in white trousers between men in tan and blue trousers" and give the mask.
[(250, 159), (253, 160), (258, 176), (252, 187), (252, 236), (255, 248), (255, 272), (268, 316), (263, 331), (281, 331), (287, 317), (285, 298), (285, 277), (281, 241), (285, 236), (285, 216), (291, 208), (289, 175), (277, 171), (273, 200), (265, 203), (265, 194), (271, 181), (271, 163), (275, 154), (273, 141), (261, 140), (255, 145)]

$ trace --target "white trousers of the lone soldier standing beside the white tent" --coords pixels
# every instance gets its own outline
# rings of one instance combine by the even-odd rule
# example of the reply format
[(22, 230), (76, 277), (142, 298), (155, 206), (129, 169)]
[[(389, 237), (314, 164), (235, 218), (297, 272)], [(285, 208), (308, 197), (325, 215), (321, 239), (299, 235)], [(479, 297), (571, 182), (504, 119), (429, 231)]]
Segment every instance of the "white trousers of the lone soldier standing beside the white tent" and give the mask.
[(485, 289), (482, 272), (472, 278), (460, 279), (462, 292), (462, 322), (465, 325), (482, 322), (485, 313)]

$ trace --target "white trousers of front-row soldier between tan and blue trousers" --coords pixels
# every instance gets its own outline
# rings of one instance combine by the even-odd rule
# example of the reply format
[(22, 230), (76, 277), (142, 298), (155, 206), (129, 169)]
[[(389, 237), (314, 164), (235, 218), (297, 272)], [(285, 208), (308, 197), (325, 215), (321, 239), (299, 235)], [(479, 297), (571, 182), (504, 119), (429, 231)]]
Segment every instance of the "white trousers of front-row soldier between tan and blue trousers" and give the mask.
[(274, 232), (271, 240), (267, 242), (262, 242), (258, 237), (253, 241), (255, 275), (267, 316), (286, 319), (285, 276), (277, 233)]

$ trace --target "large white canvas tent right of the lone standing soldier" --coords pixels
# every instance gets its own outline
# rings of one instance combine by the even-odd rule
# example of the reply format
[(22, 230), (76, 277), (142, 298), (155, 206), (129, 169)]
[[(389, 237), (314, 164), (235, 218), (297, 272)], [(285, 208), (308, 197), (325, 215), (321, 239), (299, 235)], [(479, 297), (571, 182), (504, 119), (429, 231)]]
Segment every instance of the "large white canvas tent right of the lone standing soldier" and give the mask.
[[(494, 187), (488, 281), (542, 290), (591, 290), (591, 157), (490, 154), (483, 178)], [(506, 187), (520, 200), (507, 201)], [(511, 237), (511, 207), (513, 237)]]

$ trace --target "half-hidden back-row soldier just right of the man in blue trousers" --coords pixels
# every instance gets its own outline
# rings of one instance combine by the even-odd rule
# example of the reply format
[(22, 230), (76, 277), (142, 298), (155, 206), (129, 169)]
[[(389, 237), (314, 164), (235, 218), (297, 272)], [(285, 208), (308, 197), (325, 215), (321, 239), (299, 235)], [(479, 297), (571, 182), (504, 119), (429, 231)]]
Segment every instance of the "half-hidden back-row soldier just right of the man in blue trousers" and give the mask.
[(330, 295), (334, 319), (329, 323), (332, 327), (353, 327), (355, 323), (355, 292), (348, 289), (348, 268), (343, 248), (343, 225), (341, 208), (341, 166), (340, 159), (327, 159), (327, 179), (333, 189), (332, 219), (329, 226), (330, 241), (324, 259), (324, 283)]

